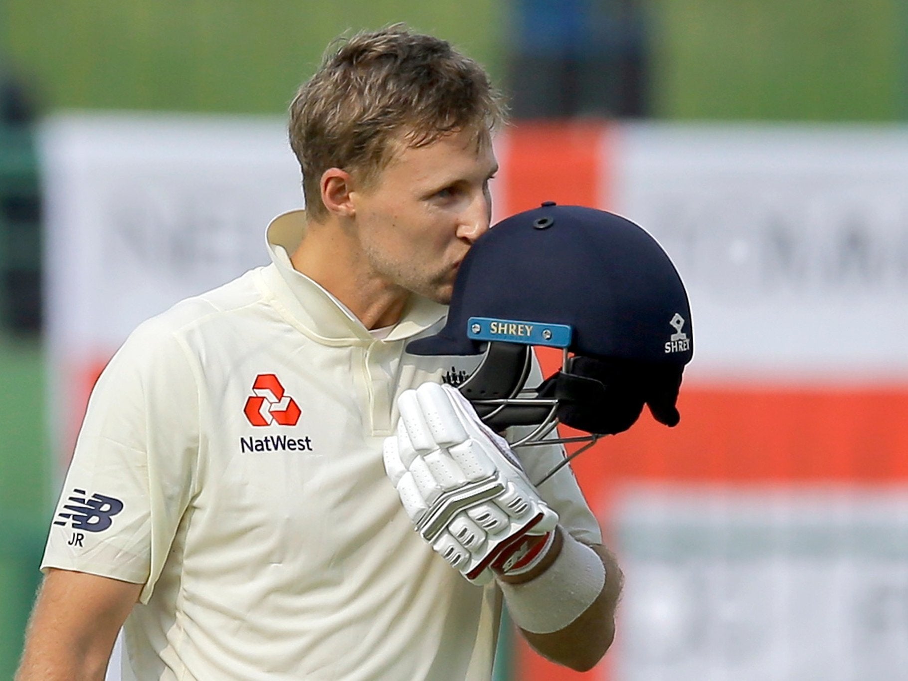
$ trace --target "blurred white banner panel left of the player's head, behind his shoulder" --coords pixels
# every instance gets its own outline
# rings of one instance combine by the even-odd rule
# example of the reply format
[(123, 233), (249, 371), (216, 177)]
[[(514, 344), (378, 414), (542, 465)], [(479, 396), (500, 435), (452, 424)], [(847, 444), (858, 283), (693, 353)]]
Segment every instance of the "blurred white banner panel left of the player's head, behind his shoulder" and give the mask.
[(302, 203), (281, 119), (94, 115), (44, 125), (54, 347), (117, 347), (151, 314), (267, 262)]

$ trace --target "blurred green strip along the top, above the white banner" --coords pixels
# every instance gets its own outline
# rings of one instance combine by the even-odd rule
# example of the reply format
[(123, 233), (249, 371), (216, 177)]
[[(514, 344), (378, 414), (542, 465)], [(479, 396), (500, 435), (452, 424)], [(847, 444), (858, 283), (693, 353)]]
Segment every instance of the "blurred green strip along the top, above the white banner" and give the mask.
[[(657, 117), (887, 121), (908, 114), (908, 5), (899, 0), (592, 4), (639, 5), (646, 14)], [(3, 0), (0, 50), (5, 45), (45, 111), (276, 113), (334, 36), (395, 21), (458, 44), (507, 84), (516, 5)]]

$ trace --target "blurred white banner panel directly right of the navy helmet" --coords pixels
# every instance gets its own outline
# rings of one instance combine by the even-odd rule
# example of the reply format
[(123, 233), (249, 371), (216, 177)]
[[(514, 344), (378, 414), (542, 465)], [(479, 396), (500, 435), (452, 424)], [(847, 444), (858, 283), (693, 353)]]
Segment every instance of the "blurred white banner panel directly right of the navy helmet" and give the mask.
[(613, 206), (684, 279), (692, 375), (908, 380), (908, 129), (619, 126)]

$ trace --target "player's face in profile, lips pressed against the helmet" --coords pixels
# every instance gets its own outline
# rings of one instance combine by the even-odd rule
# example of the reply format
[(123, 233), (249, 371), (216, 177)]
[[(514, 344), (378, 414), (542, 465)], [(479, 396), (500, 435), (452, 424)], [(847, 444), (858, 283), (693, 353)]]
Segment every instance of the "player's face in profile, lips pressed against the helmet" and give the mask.
[(497, 170), (488, 135), (475, 131), (401, 145), (370, 187), (351, 192), (370, 275), (449, 303), (460, 262), (489, 229)]

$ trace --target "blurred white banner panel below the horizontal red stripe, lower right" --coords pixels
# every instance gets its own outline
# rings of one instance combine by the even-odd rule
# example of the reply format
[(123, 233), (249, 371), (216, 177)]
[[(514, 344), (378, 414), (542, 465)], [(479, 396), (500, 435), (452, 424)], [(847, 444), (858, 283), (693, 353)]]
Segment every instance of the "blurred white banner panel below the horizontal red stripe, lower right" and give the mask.
[(908, 669), (908, 489), (628, 489), (622, 681)]

